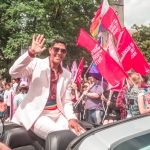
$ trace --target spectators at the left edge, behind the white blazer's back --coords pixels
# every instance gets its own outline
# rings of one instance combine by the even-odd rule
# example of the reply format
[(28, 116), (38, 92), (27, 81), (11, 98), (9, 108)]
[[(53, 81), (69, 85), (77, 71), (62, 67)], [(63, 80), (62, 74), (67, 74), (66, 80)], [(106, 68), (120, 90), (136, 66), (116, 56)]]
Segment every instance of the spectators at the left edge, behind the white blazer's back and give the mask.
[(0, 103), (2, 120), (10, 121), (28, 92), (28, 81), (24, 78), (3, 79), (0, 83)]

